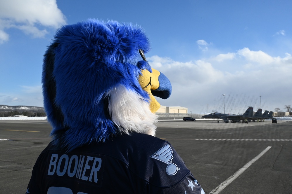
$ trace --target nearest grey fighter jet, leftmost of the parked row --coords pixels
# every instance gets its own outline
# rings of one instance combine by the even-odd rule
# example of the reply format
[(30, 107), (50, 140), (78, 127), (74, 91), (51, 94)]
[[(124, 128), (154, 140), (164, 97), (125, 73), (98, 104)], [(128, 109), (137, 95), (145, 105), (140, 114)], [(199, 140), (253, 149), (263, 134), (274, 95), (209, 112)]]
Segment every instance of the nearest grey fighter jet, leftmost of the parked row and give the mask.
[(219, 119), (223, 119), (225, 123), (229, 123), (229, 120), (231, 120), (231, 123), (240, 122), (240, 120), (246, 120), (251, 119), (253, 116), (253, 107), (248, 106), (248, 109), (242, 114), (242, 115), (236, 115), (236, 114), (224, 114), (224, 113), (218, 113), (214, 111), (214, 113), (204, 115), (202, 118), (217, 118), (219, 123)]

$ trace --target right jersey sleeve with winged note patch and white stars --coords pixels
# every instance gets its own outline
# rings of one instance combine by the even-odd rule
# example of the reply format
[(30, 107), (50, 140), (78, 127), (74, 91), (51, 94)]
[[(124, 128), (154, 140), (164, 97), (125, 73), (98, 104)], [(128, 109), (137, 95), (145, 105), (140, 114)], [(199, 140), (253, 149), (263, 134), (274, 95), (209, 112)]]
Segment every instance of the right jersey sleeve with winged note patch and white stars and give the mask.
[(182, 158), (168, 142), (153, 153), (151, 159), (153, 177), (149, 182), (149, 193), (205, 194)]

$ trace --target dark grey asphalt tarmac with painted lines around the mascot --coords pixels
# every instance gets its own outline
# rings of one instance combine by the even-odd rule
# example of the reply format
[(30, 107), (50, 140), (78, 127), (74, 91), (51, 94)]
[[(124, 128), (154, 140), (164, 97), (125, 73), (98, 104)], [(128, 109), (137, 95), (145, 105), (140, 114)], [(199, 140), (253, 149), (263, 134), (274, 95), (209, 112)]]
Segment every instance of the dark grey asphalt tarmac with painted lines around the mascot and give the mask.
[[(206, 194), (292, 194), (292, 121), (198, 120), (157, 126), (156, 137), (172, 144)], [(0, 121), (1, 194), (26, 192), (50, 131), (46, 121)]]

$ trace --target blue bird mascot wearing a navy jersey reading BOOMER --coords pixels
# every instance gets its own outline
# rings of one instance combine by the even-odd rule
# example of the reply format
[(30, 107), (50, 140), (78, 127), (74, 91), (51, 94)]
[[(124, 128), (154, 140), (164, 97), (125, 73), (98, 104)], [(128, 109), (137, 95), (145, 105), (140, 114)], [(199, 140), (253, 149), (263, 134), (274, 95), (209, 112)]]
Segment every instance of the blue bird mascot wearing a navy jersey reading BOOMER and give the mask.
[[(204, 193), (169, 142), (155, 137), (171, 84), (152, 69), (141, 27), (86, 20), (57, 30), (44, 54), (52, 141), (27, 193)], [(154, 95), (154, 96), (153, 96)]]

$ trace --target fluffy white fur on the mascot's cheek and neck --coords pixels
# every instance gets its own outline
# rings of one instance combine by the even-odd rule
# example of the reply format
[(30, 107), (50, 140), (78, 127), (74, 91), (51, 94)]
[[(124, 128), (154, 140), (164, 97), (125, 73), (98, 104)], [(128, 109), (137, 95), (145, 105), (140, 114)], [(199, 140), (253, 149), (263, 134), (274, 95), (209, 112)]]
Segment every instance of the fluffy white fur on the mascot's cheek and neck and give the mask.
[(155, 136), (157, 118), (149, 109), (149, 103), (139, 94), (122, 85), (108, 92), (108, 111), (121, 133), (138, 132)]

